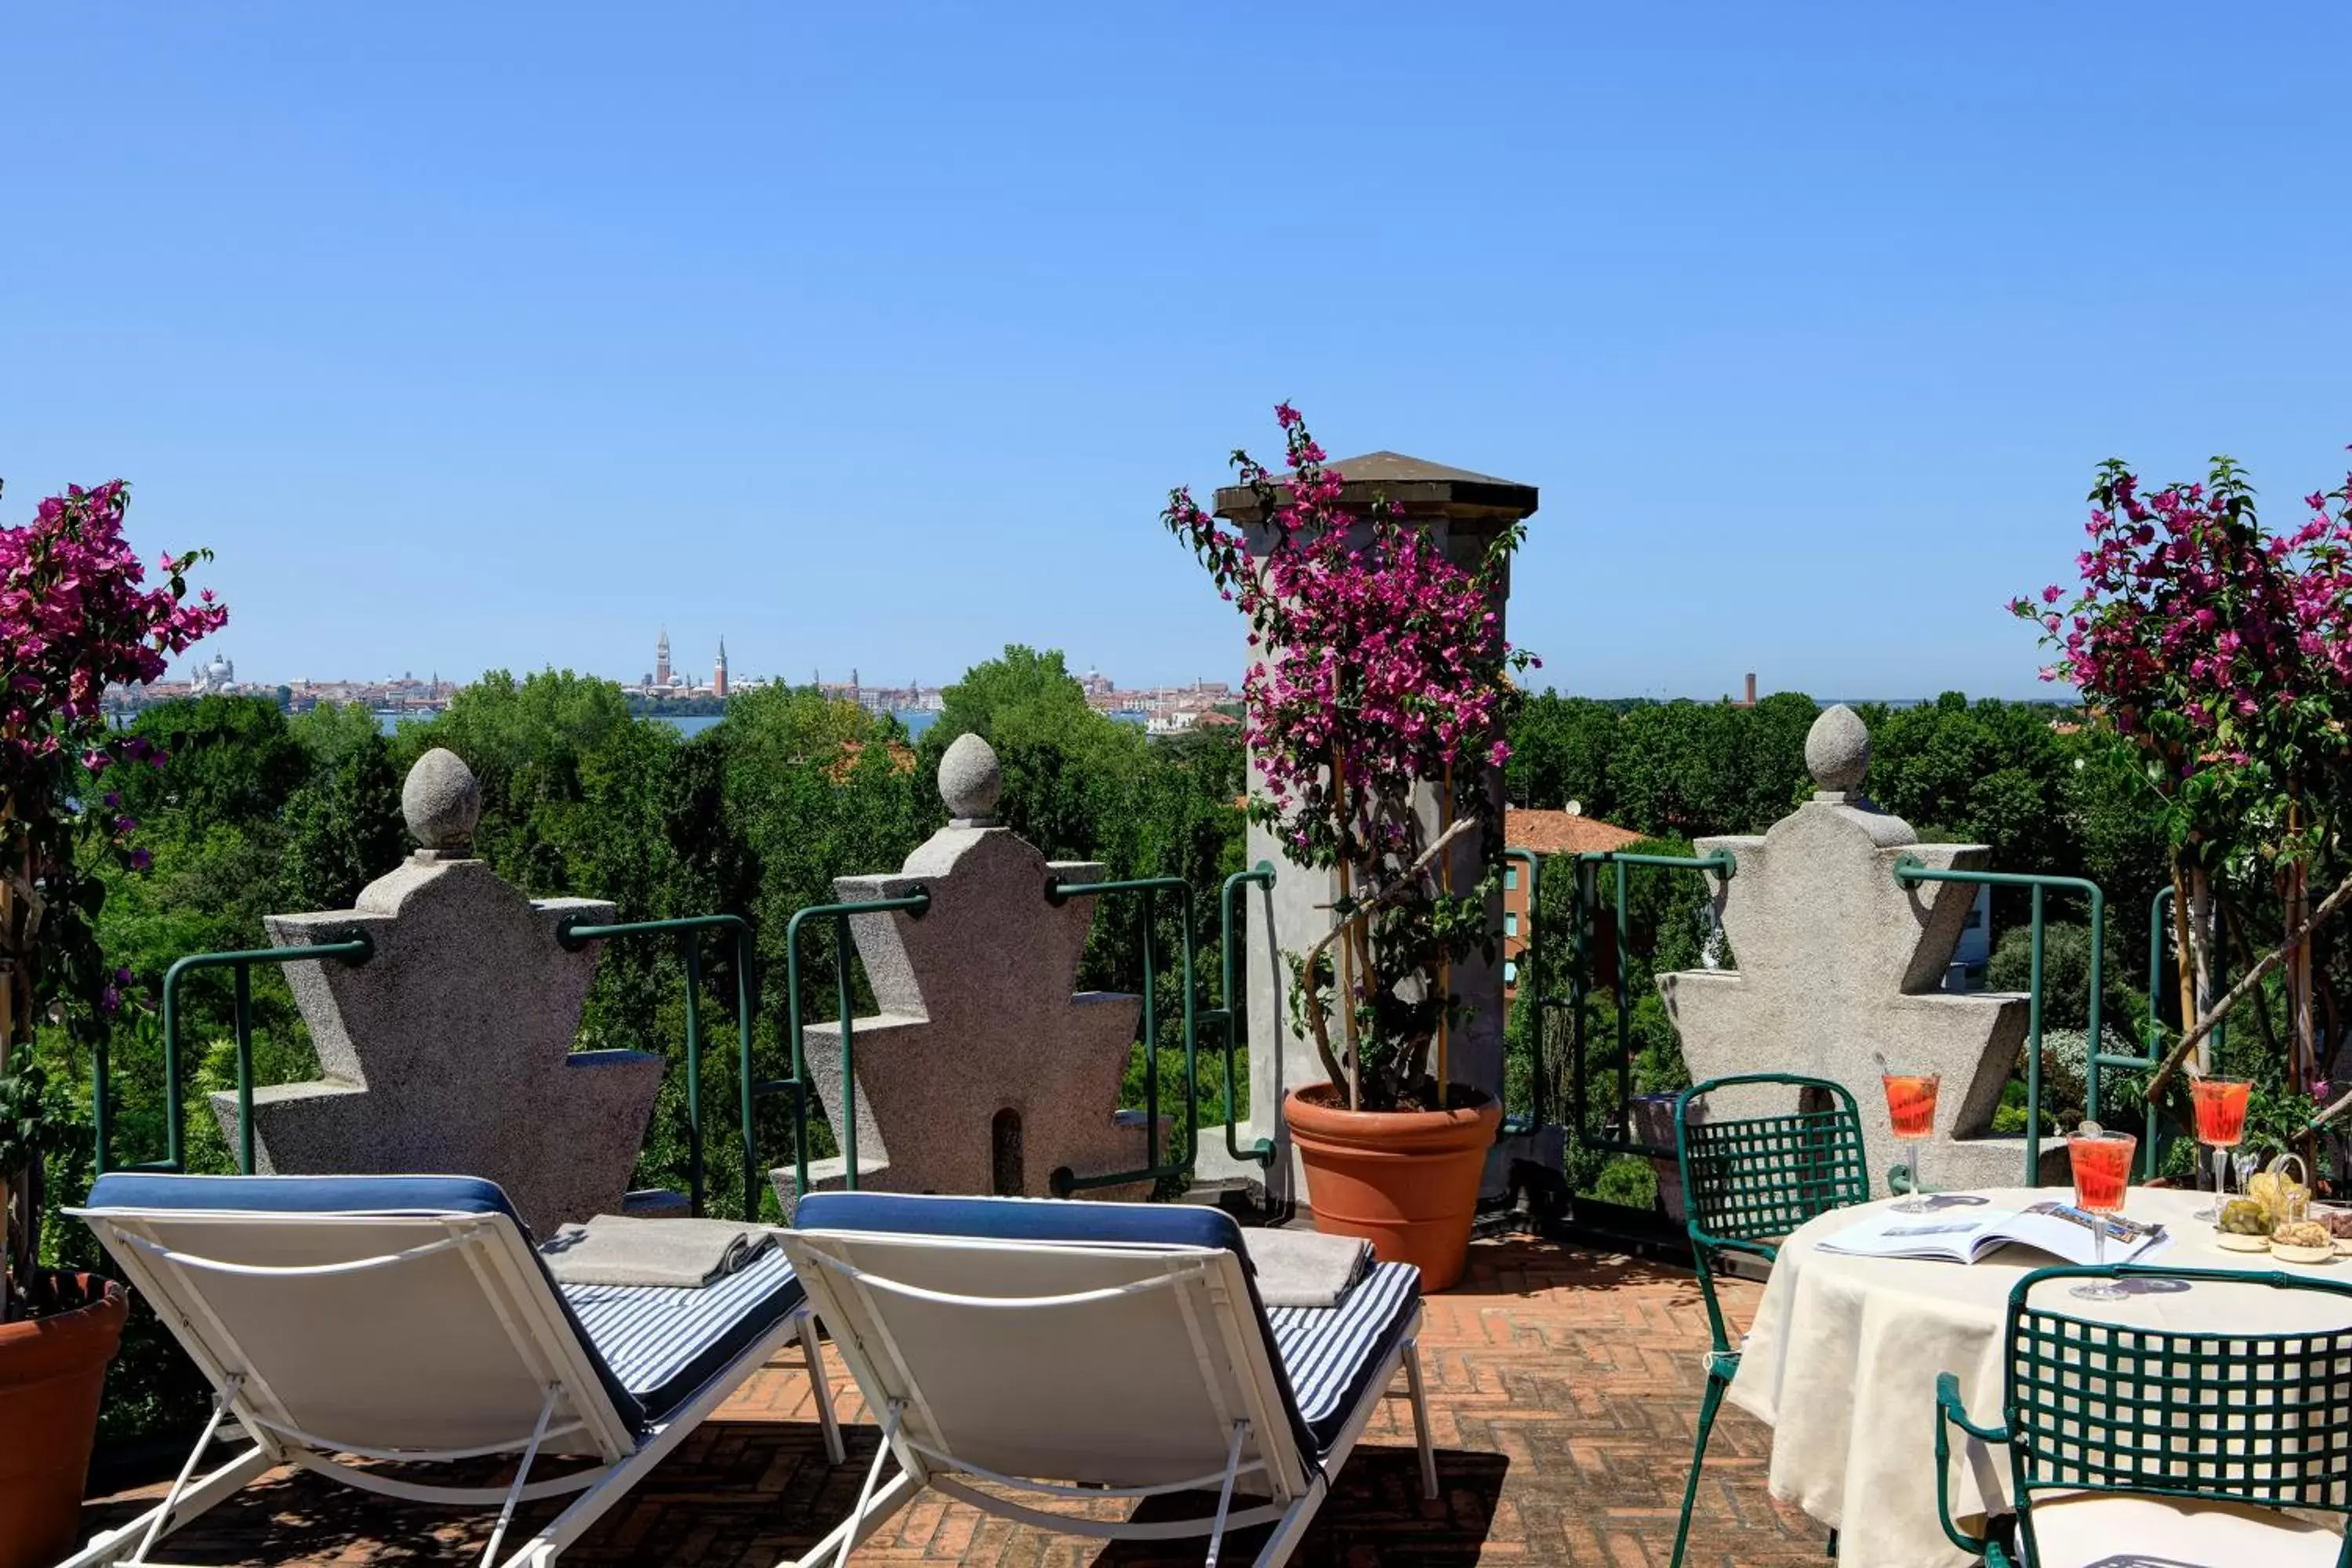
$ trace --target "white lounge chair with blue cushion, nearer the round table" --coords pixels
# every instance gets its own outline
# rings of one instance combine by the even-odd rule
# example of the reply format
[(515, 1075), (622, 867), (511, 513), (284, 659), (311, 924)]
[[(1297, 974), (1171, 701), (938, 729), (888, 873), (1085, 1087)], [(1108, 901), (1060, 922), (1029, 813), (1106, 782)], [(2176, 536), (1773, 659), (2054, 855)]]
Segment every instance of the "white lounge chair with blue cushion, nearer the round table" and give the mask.
[[(1270, 1521), (1258, 1563), (1282, 1563), (1399, 1366), (1437, 1495), (1406, 1265), (1338, 1307), (1268, 1312), (1216, 1208), (875, 1192), (811, 1194), (783, 1248), (882, 1418), (856, 1509), (804, 1566), (847, 1561), (924, 1486), (1075, 1535), (1207, 1535), (1209, 1563), (1228, 1528)], [(1216, 1509), (1077, 1519), (974, 1479), (1080, 1502), (1214, 1490)]]

